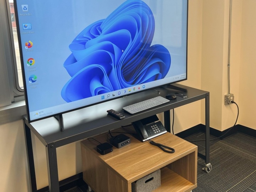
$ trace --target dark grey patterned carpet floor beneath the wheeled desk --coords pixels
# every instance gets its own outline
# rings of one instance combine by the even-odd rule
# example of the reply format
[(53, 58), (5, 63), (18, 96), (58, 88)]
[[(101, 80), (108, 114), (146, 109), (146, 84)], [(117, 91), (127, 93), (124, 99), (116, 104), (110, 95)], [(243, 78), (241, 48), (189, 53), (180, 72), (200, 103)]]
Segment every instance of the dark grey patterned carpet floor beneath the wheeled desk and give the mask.
[[(205, 139), (204, 133), (185, 138), (188, 141)], [(214, 139), (214, 137), (210, 137)], [(205, 154), (205, 142), (192, 142), (198, 152)], [(236, 133), (223, 140), (210, 141), (212, 170), (202, 170), (205, 161), (197, 161), (197, 188), (193, 192), (256, 192), (256, 138)], [(86, 192), (81, 186), (69, 192)]]

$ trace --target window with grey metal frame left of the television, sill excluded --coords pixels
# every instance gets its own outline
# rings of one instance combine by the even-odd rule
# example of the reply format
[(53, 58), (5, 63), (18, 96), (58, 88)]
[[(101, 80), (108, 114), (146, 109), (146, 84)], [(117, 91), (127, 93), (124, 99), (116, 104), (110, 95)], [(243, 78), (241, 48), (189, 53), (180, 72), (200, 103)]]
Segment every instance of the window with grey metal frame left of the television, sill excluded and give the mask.
[(0, 1), (0, 26), (0, 107), (2, 107), (24, 99), (14, 6), (9, 0)]

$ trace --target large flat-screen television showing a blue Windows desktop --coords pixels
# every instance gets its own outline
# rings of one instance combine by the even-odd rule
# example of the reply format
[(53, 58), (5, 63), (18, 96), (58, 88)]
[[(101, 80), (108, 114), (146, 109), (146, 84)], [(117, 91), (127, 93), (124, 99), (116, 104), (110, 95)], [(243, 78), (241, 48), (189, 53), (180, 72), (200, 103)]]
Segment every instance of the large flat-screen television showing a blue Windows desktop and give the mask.
[(15, 0), (28, 122), (187, 79), (188, 0)]

